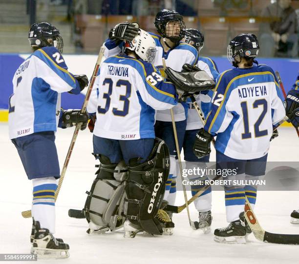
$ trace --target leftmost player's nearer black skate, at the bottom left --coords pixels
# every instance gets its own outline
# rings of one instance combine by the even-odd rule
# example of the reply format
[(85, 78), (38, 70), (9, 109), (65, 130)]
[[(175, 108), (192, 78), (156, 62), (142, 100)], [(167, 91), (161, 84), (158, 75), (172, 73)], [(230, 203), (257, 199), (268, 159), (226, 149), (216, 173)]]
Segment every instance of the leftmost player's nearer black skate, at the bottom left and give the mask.
[(64, 259), (69, 257), (68, 250), (68, 244), (58, 241), (48, 229), (41, 229), (40, 223), (35, 221), (31, 254), (37, 254), (38, 258)]

